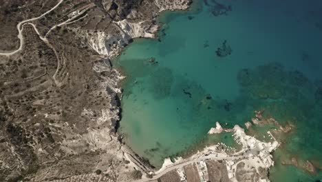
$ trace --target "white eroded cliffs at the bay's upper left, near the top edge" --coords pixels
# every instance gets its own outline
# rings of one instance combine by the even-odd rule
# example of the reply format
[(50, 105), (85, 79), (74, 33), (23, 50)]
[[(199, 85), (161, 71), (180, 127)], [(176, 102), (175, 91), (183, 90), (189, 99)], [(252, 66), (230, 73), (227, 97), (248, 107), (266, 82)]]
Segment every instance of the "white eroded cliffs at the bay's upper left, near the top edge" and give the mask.
[[(158, 6), (159, 12), (164, 10), (186, 10), (189, 8), (191, 0), (155, 0), (155, 5)], [(155, 33), (158, 31), (158, 24), (153, 24), (151, 21), (130, 21), (133, 17), (137, 17), (138, 13), (132, 11), (128, 15), (128, 19), (114, 21), (114, 25), (118, 28), (117, 34), (107, 34), (102, 31), (85, 32), (86, 40), (98, 54), (113, 57), (120, 53), (121, 49), (131, 42), (134, 38), (155, 38)]]

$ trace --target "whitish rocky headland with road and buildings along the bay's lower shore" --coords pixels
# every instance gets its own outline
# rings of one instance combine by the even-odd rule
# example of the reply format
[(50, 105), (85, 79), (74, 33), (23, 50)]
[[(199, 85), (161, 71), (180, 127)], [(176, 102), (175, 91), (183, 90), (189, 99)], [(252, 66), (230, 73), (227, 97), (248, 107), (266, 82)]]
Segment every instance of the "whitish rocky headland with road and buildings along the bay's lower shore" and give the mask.
[[(260, 181), (269, 181), (268, 176), (263, 175), (263, 170), (268, 170), (274, 165), (270, 153), (277, 149), (279, 143), (276, 140), (272, 140), (272, 142), (268, 143), (259, 141), (258, 139), (255, 139), (255, 137), (247, 135), (244, 132), (244, 129), (239, 127), (239, 125), (235, 125), (234, 128), (226, 129), (222, 128), (218, 122), (216, 123), (216, 128), (211, 128), (208, 134), (219, 134), (221, 132), (233, 132), (233, 137), (235, 141), (241, 145), (241, 150), (231, 154), (226, 152), (231, 149), (230, 147), (224, 143), (218, 143), (217, 145), (211, 145), (204, 148), (202, 151), (198, 151), (187, 159), (179, 157), (174, 163), (171, 159), (167, 158), (164, 160), (160, 170), (149, 173), (153, 175), (153, 179), (158, 179), (160, 176), (176, 170), (178, 174), (182, 176), (182, 179), (184, 179), (185, 175), (182, 173), (184, 166), (193, 165), (195, 163), (197, 165), (202, 165), (202, 163), (206, 163), (207, 161), (215, 160), (224, 161), (226, 163), (226, 171), (228, 172), (230, 181), (238, 181), (237, 178), (240, 178), (241, 175), (239, 173), (241, 172), (241, 166), (244, 172), (253, 172), (254, 176), (252, 180), (259, 181), (260, 179)], [(253, 174), (249, 174), (247, 177), (252, 176)], [(261, 177), (259, 178), (258, 176), (260, 176), (260, 174)], [(208, 179), (207, 171), (199, 171), (199, 175), (200, 179)], [(259, 179), (255, 179), (255, 176)], [(142, 179), (139, 181), (151, 181), (151, 179)]]

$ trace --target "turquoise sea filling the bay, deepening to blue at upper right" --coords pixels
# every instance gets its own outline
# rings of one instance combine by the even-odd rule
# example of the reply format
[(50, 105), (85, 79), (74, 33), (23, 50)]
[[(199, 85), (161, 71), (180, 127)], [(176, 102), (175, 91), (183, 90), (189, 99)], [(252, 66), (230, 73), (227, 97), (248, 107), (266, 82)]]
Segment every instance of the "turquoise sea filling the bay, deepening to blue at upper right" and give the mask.
[[(158, 39), (135, 39), (113, 61), (127, 76), (127, 145), (158, 168), (200, 145), (216, 121), (244, 127), (265, 110), (296, 125), (273, 154), (270, 179), (322, 180), (322, 1), (195, 0), (160, 21)], [(316, 173), (281, 165), (290, 157)]]

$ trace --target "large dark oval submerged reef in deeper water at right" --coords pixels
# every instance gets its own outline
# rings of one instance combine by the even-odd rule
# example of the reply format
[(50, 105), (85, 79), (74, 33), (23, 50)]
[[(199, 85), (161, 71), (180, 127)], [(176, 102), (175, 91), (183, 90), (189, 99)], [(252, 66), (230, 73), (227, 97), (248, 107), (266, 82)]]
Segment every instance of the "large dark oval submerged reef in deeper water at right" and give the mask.
[(303, 73), (286, 71), (279, 63), (240, 70), (237, 80), (242, 90), (260, 99), (299, 98), (302, 94), (299, 90), (310, 90), (310, 82)]

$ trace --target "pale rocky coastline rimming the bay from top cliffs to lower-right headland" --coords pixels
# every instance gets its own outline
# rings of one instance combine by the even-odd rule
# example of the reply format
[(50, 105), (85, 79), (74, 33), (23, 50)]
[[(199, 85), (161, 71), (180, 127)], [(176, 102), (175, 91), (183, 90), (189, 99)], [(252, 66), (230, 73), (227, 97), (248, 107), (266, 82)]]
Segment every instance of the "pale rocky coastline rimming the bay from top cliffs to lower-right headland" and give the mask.
[[(155, 1), (156, 6), (158, 6), (159, 8), (159, 12), (155, 13), (152, 19), (133, 21), (133, 19), (131, 18), (133, 17), (135, 18), (137, 12), (131, 12), (128, 15), (128, 17), (131, 17), (131, 18), (122, 19), (119, 21), (113, 21), (113, 25), (116, 27), (117, 30), (119, 30), (119, 31), (116, 31), (117, 32), (116, 34), (109, 34), (107, 32), (94, 30), (92, 32), (88, 32), (88, 31), (85, 33), (82, 32), (81, 39), (83, 39), (83, 43), (87, 43), (87, 45), (89, 45), (90, 48), (95, 50), (98, 54), (102, 55), (109, 61), (109, 59), (111, 59), (112, 57), (118, 56), (122, 51), (122, 48), (125, 48), (127, 45), (129, 45), (129, 43), (131, 43), (133, 39), (158, 38), (156, 37), (156, 33), (158, 32), (160, 25), (158, 24), (158, 21), (156, 20), (156, 18), (158, 17), (158, 14), (160, 12), (164, 10), (186, 10), (187, 8), (189, 8), (189, 5), (191, 4), (191, 2), (192, 1), (190, 0), (186, 0), (186, 1), (178, 0), (178, 1), (173, 1), (171, 4), (167, 1), (165, 3), (162, 3), (162, 1)], [(112, 67), (111, 69), (114, 70)], [(169, 160), (167, 161), (166, 159), (166, 161), (164, 161), (164, 166), (160, 170), (155, 171), (154, 167), (149, 164), (149, 161), (145, 161), (144, 159), (142, 159), (135, 152), (133, 152), (133, 150), (131, 150), (131, 148), (129, 148), (129, 146), (127, 146), (127, 144), (124, 143), (124, 141), (122, 141), (122, 136), (120, 136), (117, 132), (117, 128), (119, 126), (118, 122), (121, 119), (120, 116), (122, 112), (121, 105), (119, 104), (120, 97), (122, 97), (121, 96), (122, 89), (119, 87), (118, 83), (120, 83), (122, 79), (125, 79), (125, 76), (122, 76), (122, 74), (120, 74), (120, 72), (118, 72), (117, 70), (114, 70), (114, 71), (118, 76), (114, 79), (115, 84), (112, 84), (112, 85), (115, 85), (114, 88), (111, 88), (111, 90), (113, 90), (114, 93), (110, 92), (109, 94), (114, 95), (115, 102), (112, 102), (112, 106), (116, 108), (116, 115), (118, 117), (115, 117), (114, 122), (111, 123), (111, 126), (114, 128), (114, 130), (111, 130), (111, 132), (114, 133), (114, 136), (115, 136), (114, 139), (117, 139), (118, 142), (120, 143), (120, 150), (122, 150), (123, 155), (125, 159), (129, 161), (129, 164), (133, 166), (133, 168), (136, 168), (136, 170), (139, 170), (140, 172), (142, 172), (145, 178), (147, 179), (153, 178), (154, 175), (160, 174), (162, 170), (169, 168), (169, 166), (175, 165), (175, 163), (170, 163)], [(110, 85), (110, 83), (106, 84), (106, 86), (107, 85)], [(107, 88), (108, 87), (109, 86), (107, 86)], [(222, 128), (222, 126), (219, 123), (216, 123), (216, 128), (211, 128), (208, 134), (219, 134), (221, 132), (235, 132), (236, 140), (239, 140), (241, 139), (241, 136), (239, 135), (242, 135), (242, 137), (244, 137), (245, 135), (245, 134), (244, 135), (242, 134), (244, 132), (241, 132), (241, 130), (242, 129), (239, 126), (235, 126), (235, 128), (233, 129), (225, 129), (225, 128)], [(255, 138), (251, 138), (251, 139), (255, 139)], [(260, 143), (260, 141), (257, 141), (257, 142)], [(270, 152), (272, 152), (277, 148), (278, 143), (275, 141), (274, 144), (268, 144), (268, 145), (269, 145), (268, 147), (269, 150), (268, 152), (266, 152), (268, 154), (268, 158), (266, 160), (269, 162), (268, 164), (264, 164), (262, 168), (270, 168), (271, 165), (274, 165), (274, 161), (272, 161), (272, 156), (270, 155)], [(244, 147), (248, 146), (248, 143), (244, 141), (243, 146)], [(204, 153), (207, 153), (209, 151), (215, 151), (213, 148), (217, 148), (217, 147), (218, 147), (217, 145), (213, 145), (211, 149), (206, 148), (203, 152), (201, 153), (198, 152), (198, 154), (193, 155), (192, 158), (189, 157), (189, 159), (185, 159), (185, 160), (190, 160), (190, 158), (191, 159), (198, 158)], [(244, 148), (244, 150), (247, 150), (247, 149)], [(242, 153), (244, 150), (239, 151), (239, 153)], [(179, 158), (179, 161), (177, 162), (180, 163), (180, 161), (181, 159)], [(267, 176), (266, 176), (266, 179), (267, 179)]]

